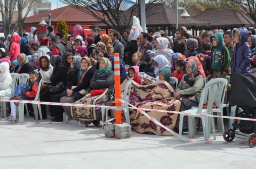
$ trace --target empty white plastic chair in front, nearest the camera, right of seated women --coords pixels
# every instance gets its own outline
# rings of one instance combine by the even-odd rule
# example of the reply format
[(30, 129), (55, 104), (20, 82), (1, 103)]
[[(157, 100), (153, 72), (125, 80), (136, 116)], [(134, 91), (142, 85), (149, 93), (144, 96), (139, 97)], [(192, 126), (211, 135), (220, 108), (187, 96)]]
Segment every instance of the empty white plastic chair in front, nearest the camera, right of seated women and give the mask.
[[(196, 114), (212, 114), (212, 106), (208, 106), (207, 109), (202, 109), (202, 106), (204, 102), (202, 100), (205, 100), (205, 97), (208, 98), (207, 103), (208, 105), (212, 105), (216, 89), (217, 89), (218, 82), (212, 82), (211, 84), (207, 85), (205, 88), (202, 89), (201, 97), (200, 97), (200, 103), (198, 109), (189, 109), (183, 111), (186, 114), (186, 116), (189, 116), (189, 137), (194, 137), (195, 135), (195, 117), (199, 117), (202, 119), (202, 128), (203, 128), (203, 135), (204, 140), (209, 140), (209, 119), (212, 120), (212, 128), (213, 128), (213, 135), (214, 139), (216, 139), (216, 133), (215, 133), (215, 126), (212, 118), (205, 117), (205, 116), (196, 116)], [(179, 134), (182, 135), (182, 126), (183, 126), (183, 118), (185, 114), (180, 114), (180, 126), (179, 126)], [(181, 141), (181, 140), (179, 140)]]

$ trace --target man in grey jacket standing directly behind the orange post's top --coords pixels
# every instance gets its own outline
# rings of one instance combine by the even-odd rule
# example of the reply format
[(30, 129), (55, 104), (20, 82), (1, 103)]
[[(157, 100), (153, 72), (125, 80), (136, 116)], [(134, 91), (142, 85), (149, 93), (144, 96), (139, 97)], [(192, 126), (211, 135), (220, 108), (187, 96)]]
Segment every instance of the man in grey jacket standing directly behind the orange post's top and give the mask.
[(113, 43), (114, 53), (119, 53), (120, 59), (123, 60), (124, 46), (118, 40), (119, 32), (118, 31), (111, 31), (109, 37), (111, 38), (112, 43)]

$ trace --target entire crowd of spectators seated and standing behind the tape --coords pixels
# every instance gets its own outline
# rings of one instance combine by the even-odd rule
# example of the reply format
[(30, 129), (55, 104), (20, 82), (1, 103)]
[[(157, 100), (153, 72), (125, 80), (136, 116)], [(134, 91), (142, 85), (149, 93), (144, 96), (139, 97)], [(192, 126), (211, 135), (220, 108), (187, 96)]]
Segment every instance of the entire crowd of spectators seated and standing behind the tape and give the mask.
[[(121, 90), (133, 78), (135, 88), (129, 98), (131, 104), (151, 105), (152, 109), (162, 104), (166, 110), (184, 111), (198, 105), (204, 78), (226, 78), (232, 72), (250, 73), (250, 69), (256, 67), (255, 31), (246, 28), (235, 28), (224, 34), (218, 30), (214, 34), (201, 30), (199, 36), (192, 36), (182, 26), (175, 31), (173, 40), (166, 37), (163, 30), (148, 28), (148, 33), (143, 32), (139, 19), (133, 17), (131, 30), (125, 30), (123, 35), (118, 31), (101, 34), (99, 27), (95, 27), (88, 38), (79, 35), (63, 37), (60, 32), (55, 34), (51, 26), (47, 31), (47, 37), (39, 39), (35, 27), (22, 37), (16, 33), (6, 39), (0, 37), (0, 96), (11, 93), (10, 73), (14, 72), (29, 74), (30, 78), (27, 88), (14, 96), (14, 100), (33, 100), (42, 78), (40, 101), (101, 105), (113, 96), (113, 55), (119, 53)], [(143, 72), (142, 76), (140, 72)], [(170, 80), (171, 76), (178, 79), (177, 88)], [(60, 83), (64, 86), (62, 91), (54, 93), (50, 90)], [(144, 90), (140, 91), (141, 88)], [(162, 93), (159, 88), (168, 89), (168, 92)], [(225, 102), (228, 101), (227, 94), (224, 97)], [(152, 106), (152, 103), (155, 104)], [(17, 119), (17, 106), (17, 103), (11, 104), (9, 121)], [(158, 108), (162, 109), (161, 106)], [(46, 119), (46, 106), (41, 105), (41, 109), (42, 119)], [(62, 121), (65, 112), (67, 116), (81, 119), (86, 126), (93, 123), (99, 127), (101, 124), (100, 108), (50, 106), (49, 111), (55, 122)], [(34, 116), (31, 105), (28, 114)], [(178, 115), (155, 116), (172, 130), (179, 130)], [(130, 119), (135, 131), (168, 135), (150, 121), (146, 127), (145, 119), (135, 110), (130, 112)], [(183, 129), (188, 129), (186, 118)]]

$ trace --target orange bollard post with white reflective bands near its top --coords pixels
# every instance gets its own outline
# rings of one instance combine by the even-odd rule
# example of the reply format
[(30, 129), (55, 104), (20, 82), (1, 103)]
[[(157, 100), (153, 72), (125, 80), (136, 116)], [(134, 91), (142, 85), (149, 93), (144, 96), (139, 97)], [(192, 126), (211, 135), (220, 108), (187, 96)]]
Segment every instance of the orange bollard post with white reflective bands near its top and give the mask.
[[(114, 70), (115, 70), (115, 103), (116, 107), (121, 107), (121, 101), (116, 101), (116, 99), (121, 99), (121, 83), (120, 83), (120, 61), (119, 61), (119, 53), (114, 54)], [(115, 111), (115, 123), (121, 124), (121, 110)]]

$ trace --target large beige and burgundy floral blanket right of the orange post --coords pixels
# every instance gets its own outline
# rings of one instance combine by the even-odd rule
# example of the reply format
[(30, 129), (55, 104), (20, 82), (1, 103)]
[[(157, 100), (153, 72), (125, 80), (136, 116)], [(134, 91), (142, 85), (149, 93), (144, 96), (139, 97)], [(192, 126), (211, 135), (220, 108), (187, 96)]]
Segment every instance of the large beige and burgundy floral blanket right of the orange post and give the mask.
[[(121, 85), (122, 92), (126, 82), (127, 80)], [(166, 81), (155, 81), (145, 86), (133, 81), (129, 102), (138, 108), (180, 111), (181, 102), (174, 98), (173, 93), (174, 89)], [(145, 112), (169, 129), (174, 130), (178, 114), (155, 111)], [(124, 118), (124, 115), (122, 115), (122, 118)], [(139, 133), (153, 132), (156, 135), (172, 135), (135, 109), (130, 109), (130, 122), (133, 129)]]

